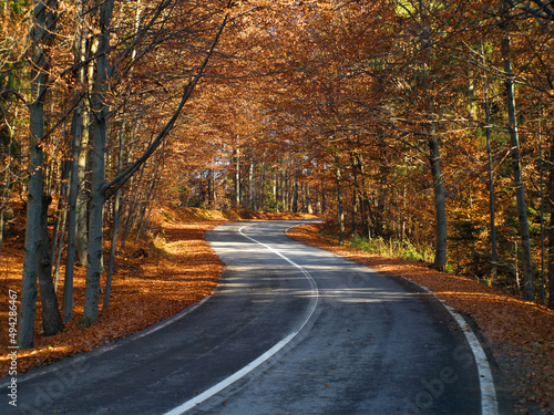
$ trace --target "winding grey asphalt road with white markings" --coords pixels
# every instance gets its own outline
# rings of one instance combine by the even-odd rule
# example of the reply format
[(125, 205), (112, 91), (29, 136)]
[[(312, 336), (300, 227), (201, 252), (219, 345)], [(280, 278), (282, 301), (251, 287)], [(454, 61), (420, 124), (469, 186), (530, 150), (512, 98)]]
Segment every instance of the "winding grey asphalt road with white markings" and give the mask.
[[(284, 235), (224, 225), (206, 301), (110, 346), (2, 383), (0, 414), (507, 412), (452, 314), (406, 283)], [(479, 346), (479, 343), (478, 343)], [(481, 351), (482, 352), (482, 351)], [(485, 378), (485, 381), (483, 381)]]

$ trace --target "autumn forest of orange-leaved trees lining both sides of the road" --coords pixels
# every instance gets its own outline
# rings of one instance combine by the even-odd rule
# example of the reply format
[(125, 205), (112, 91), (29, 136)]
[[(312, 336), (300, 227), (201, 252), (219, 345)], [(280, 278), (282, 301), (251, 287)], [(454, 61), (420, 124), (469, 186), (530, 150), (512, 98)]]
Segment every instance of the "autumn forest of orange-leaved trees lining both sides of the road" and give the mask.
[(45, 334), (74, 318), (75, 267), (82, 323), (99, 319), (101, 274), (106, 307), (115, 250), (164, 204), (321, 215), (340, 245), (398, 247), (554, 308), (553, 2), (0, 13), (0, 258), (24, 215), (22, 349), (39, 295)]

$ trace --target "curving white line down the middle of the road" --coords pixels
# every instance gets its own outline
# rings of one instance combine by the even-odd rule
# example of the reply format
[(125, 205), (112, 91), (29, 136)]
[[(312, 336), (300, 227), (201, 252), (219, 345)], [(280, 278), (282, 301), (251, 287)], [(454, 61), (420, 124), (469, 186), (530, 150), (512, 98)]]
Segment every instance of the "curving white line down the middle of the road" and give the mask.
[(285, 347), (306, 326), (308, 321), (311, 319), (311, 315), (316, 311), (317, 302), (319, 300), (319, 290), (317, 288), (316, 280), (314, 280), (314, 278), (310, 276), (310, 273), (308, 271), (306, 271), (302, 267), (300, 267), (298, 263), (296, 263), (295, 261), (285, 257), (283, 253), (280, 253), (276, 249), (271, 248), (270, 246), (263, 243), (259, 240), (250, 238), (249, 236), (245, 235), (243, 232), (243, 229), (246, 226), (243, 226), (240, 229), (238, 229), (238, 232), (242, 236), (252, 240), (253, 242), (256, 242), (256, 243), (263, 246), (264, 248), (268, 249), (269, 251), (274, 252), (278, 257), (283, 258), (285, 261), (290, 263), (291, 266), (298, 268), (304, 273), (304, 276), (306, 277), (306, 279), (310, 283), (310, 288), (311, 288), (310, 305), (308, 309), (308, 313), (306, 314), (306, 318), (304, 319), (302, 323), (300, 324), (300, 326), (297, 330), (295, 330), (293, 333), (288, 334), (285, 339), (279, 341), (277, 344), (275, 344), (271, 349), (269, 349), (267, 352), (261, 354), (259, 357), (252, 361), (250, 363), (248, 363), (246, 366), (240, 369), (238, 372), (235, 372), (229, 377), (227, 377), (227, 378), (223, 380), (222, 382), (219, 382), (218, 384), (212, 386), (209, 390), (207, 390), (207, 391), (203, 392), (202, 394), (199, 394), (198, 396), (195, 396), (194, 398), (181, 404), (179, 406), (171, 409), (170, 412), (166, 412), (164, 415), (184, 414), (188, 409), (195, 407), (196, 405), (201, 404), (202, 402), (204, 402), (204, 401), (208, 400), (209, 397), (214, 396), (215, 394), (219, 393), (220, 391), (223, 391), (227, 386), (232, 385), (233, 383), (235, 383), (239, 378), (246, 376), (253, 370), (258, 367), (261, 363), (266, 362), (268, 359), (270, 359), (273, 355), (275, 355), (277, 352), (279, 352), (283, 347)]

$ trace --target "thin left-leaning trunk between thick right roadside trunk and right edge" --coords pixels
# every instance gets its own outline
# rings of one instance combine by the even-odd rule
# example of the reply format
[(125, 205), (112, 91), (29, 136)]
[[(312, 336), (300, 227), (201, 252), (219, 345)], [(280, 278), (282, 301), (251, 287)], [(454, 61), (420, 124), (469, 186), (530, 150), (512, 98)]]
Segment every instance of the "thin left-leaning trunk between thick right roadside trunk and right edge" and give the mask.
[(520, 238), (522, 242), (522, 267), (523, 267), (523, 297), (527, 301), (535, 299), (533, 286), (533, 261), (531, 256), (531, 238), (527, 221), (527, 206), (525, 201), (525, 188), (521, 172), (520, 137), (517, 132), (517, 118), (515, 113), (514, 74), (512, 71), (512, 58), (510, 46), (510, 35), (502, 39), (502, 54), (504, 58), (505, 93), (510, 131), (510, 145), (512, 156), (512, 174), (515, 187), (515, 198), (517, 200), (517, 217), (520, 221)]

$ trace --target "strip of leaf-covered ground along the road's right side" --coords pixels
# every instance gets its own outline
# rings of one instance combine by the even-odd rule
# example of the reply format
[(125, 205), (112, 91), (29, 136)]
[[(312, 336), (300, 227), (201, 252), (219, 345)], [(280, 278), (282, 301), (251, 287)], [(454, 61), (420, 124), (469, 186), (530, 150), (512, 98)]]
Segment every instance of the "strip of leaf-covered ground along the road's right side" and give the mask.
[(424, 262), (384, 258), (350, 247), (305, 225), (288, 235), (305, 243), (371, 267), (391, 278), (424, 286), (458, 312), (469, 315), (486, 340), (512, 395), (516, 414), (554, 414), (554, 310), (514, 298), (475, 280), (439, 272)]

